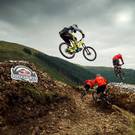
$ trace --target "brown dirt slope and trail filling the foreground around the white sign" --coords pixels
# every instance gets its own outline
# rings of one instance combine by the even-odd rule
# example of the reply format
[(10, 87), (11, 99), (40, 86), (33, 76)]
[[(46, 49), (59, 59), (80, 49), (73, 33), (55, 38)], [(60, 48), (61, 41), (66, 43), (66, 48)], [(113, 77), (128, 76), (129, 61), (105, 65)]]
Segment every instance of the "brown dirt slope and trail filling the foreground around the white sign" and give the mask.
[[(39, 82), (15, 81), (10, 69), (26, 65)], [(28, 62), (0, 63), (0, 135), (128, 135), (131, 120), (117, 110), (83, 101), (77, 89), (54, 81)]]

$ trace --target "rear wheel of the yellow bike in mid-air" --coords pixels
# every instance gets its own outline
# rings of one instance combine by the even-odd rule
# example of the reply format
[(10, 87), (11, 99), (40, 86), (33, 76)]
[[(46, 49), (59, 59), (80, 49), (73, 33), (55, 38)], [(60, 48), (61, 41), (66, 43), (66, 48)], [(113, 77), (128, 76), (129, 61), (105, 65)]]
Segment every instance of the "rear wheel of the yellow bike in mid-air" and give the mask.
[(67, 58), (67, 59), (72, 59), (72, 58), (74, 58), (75, 53), (69, 53), (69, 52), (67, 51), (68, 47), (69, 47), (68, 44), (66, 44), (66, 43), (61, 43), (61, 44), (59, 45), (59, 51), (60, 51), (60, 53), (61, 53), (65, 58)]

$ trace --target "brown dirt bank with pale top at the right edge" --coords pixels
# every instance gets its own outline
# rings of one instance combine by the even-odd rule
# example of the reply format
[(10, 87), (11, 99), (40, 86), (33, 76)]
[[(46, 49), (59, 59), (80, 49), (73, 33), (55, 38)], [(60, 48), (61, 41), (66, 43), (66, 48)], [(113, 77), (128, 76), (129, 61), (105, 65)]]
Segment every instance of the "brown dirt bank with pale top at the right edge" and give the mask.
[(135, 113), (135, 85), (111, 83), (113, 103)]

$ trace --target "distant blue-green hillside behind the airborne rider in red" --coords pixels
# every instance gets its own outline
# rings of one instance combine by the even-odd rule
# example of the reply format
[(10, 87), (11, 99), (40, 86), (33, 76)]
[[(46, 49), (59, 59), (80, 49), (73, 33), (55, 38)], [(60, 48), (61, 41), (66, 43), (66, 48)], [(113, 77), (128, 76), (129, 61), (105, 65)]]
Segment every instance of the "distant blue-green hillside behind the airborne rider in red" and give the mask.
[[(120, 82), (118, 78), (115, 77), (113, 68), (111, 67), (85, 67), (88, 71), (91, 71), (95, 74), (99, 73), (104, 75), (109, 82)], [(123, 69), (125, 73), (125, 83), (135, 84), (135, 70), (133, 69)]]

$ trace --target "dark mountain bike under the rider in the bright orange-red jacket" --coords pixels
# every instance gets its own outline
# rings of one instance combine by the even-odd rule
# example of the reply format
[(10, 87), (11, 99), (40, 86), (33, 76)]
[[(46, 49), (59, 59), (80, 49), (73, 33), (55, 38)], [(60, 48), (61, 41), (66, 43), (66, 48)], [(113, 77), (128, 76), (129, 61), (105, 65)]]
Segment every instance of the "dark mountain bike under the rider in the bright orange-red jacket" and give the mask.
[(93, 91), (92, 98), (94, 104), (101, 105), (102, 107), (111, 108), (111, 91), (110, 89), (106, 89), (104, 93), (100, 93), (100, 97), (97, 95), (97, 91)]

